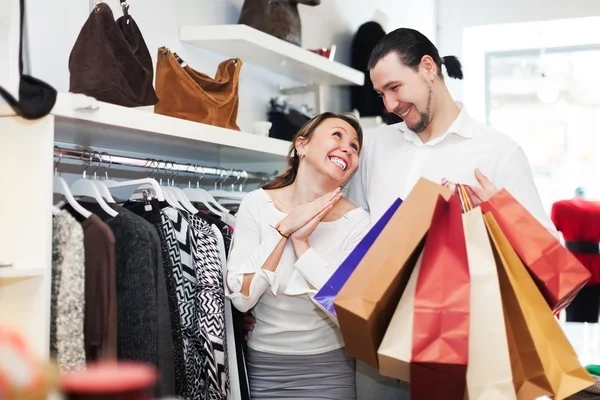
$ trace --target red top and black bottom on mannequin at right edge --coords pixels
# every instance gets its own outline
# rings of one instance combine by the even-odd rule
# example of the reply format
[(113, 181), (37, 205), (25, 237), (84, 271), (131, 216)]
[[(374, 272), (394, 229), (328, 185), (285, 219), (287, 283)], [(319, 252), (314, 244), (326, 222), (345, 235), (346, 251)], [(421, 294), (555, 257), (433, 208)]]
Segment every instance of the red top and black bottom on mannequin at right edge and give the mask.
[(552, 222), (565, 247), (590, 271), (589, 280), (566, 308), (568, 322), (597, 323), (600, 315), (600, 202), (582, 198), (552, 205)]

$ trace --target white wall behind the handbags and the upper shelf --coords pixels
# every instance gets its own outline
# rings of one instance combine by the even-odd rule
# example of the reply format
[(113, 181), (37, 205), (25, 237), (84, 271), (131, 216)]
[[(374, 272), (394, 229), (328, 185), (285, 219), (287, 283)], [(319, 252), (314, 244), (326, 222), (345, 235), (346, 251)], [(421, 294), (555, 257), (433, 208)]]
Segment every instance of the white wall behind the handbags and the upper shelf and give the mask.
[[(117, 0), (107, 0), (115, 17)], [(402, 7), (399, 0), (322, 0), (318, 7), (301, 6), (303, 47), (337, 45), (337, 60), (347, 62), (352, 35), (377, 10), (386, 14), (389, 31), (410, 26), (435, 37), (435, 0), (421, 0), (419, 7)], [(130, 13), (140, 26), (156, 62), (159, 46), (168, 46), (193, 68), (214, 74), (222, 58), (178, 41), (178, 28), (190, 24), (236, 23), (242, 0), (129, 0)], [(89, 0), (27, 0), (32, 73), (59, 91), (68, 90), (68, 58), (75, 39), (90, 12)], [(279, 84), (293, 82), (253, 65), (244, 64), (240, 83), (239, 124), (249, 130), (252, 122), (265, 118), (268, 100)], [(348, 91), (329, 91), (326, 107), (347, 111)], [(309, 99), (307, 97), (307, 99)]]

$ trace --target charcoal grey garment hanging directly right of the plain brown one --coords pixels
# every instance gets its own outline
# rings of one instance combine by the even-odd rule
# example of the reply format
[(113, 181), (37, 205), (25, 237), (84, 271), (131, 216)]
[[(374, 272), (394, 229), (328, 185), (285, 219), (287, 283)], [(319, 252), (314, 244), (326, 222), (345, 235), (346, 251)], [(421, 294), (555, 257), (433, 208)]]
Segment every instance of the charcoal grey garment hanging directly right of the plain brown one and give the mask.
[[(157, 295), (158, 271), (163, 268), (158, 234), (149, 222), (119, 205), (110, 204), (118, 212), (111, 217), (97, 203), (80, 204), (98, 215), (115, 236), (117, 358), (148, 363), (161, 371), (158, 321), (168, 320), (169, 315), (161, 314), (165, 308), (159, 306)], [(156, 395), (162, 392), (159, 381)]]

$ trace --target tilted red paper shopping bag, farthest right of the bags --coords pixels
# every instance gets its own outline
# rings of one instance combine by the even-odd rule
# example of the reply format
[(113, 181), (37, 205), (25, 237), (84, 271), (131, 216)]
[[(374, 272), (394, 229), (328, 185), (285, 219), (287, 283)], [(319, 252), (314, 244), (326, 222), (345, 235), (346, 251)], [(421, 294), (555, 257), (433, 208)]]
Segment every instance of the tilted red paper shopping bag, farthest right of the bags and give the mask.
[(550, 308), (555, 313), (564, 309), (590, 272), (505, 189), (481, 203), (481, 209), (492, 213)]

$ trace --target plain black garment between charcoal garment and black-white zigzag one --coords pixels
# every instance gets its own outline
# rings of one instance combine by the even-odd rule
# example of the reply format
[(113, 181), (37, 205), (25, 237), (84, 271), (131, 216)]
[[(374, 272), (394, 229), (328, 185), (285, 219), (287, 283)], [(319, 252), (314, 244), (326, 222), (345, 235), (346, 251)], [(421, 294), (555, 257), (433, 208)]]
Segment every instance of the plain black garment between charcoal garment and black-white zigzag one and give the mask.
[[(183, 350), (183, 337), (181, 332), (181, 317), (179, 306), (177, 305), (177, 285), (173, 275), (173, 263), (169, 254), (168, 237), (162, 226), (161, 206), (166, 207), (167, 203), (159, 204), (158, 200), (150, 201), (152, 209), (145, 209), (145, 204), (141, 202), (126, 202), (123, 207), (132, 211), (136, 215), (150, 222), (156, 230), (161, 244), (162, 270), (159, 271), (159, 293), (167, 294), (167, 301), (159, 302), (160, 307), (167, 306), (167, 310), (159, 310), (159, 314), (170, 315), (170, 319), (159, 320), (159, 356), (163, 365), (173, 365), (168, 371), (163, 372), (161, 377), (164, 382), (163, 395), (176, 395), (186, 397), (187, 378), (185, 374), (185, 358)], [(162, 282), (164, 278), (164, 289)]]

